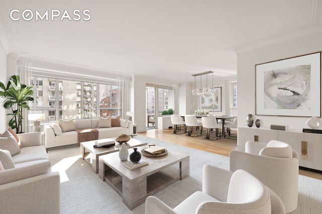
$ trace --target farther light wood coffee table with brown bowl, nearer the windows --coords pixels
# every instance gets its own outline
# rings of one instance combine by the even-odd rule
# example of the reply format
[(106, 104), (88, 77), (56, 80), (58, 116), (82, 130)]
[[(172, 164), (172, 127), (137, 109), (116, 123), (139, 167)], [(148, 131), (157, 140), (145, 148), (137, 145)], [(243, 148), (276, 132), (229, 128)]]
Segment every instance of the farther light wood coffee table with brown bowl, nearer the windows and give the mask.
[[(113, 138), (112, 138), (113, 139)], [(115, 146), (110, 148), (94, 148), (95, 140), (86, 141), (81, 143), (81, 155), (89, 164), (92, 165), (92, 169), (95, 173), (99, 172), (99, 156), (104, 154), (109, 154), (112, 152), (117, 152), (121, 149), (121, 144), (115, 142)], [(146, 142), (131, 138), (125, 143), (127, 148), (134, 148), (143, 145), (147, 145)]]

